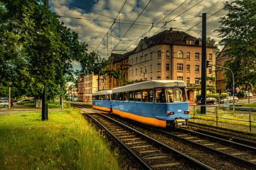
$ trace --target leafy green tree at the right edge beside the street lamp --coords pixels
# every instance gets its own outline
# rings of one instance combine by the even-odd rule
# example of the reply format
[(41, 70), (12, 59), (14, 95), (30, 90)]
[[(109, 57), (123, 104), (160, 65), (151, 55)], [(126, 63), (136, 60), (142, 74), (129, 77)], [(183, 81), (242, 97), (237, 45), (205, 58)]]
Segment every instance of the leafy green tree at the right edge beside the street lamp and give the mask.
[[(225, 67), (229, 67), (235, 74), (235, 86), (256, 85), (256, 1), (235, 0), (226, 2), (224, 10), (228, 11), (221, 18), (219, 35), (223, 38), (220, 45), (225, 45), (227, 50), (224, 55), (229, 57)], [(232, 86), (229, 72), (228, 86)]]

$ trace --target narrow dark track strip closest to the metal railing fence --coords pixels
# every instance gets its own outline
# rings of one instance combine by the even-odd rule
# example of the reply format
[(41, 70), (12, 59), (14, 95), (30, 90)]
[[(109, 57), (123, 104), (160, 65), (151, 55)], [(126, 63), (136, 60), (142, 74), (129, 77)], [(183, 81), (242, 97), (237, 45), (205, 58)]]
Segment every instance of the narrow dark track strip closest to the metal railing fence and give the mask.
[(228, 130), (225, 128), (203, 125), (201, 123), (189, 122), (188, 125), (196, 132), (256, 147), (256, 135), (252, 135), (248, 132), (238, 132), (237, 130)]

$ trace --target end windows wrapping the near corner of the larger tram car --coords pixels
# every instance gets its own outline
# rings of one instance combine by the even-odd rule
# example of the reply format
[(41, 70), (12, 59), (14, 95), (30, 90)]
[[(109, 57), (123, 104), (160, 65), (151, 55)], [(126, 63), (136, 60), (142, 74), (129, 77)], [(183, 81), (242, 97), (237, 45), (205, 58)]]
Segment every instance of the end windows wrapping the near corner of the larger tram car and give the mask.
[(156, 103), (185, 102), (185, 88), (157, 88), (155, 89)]

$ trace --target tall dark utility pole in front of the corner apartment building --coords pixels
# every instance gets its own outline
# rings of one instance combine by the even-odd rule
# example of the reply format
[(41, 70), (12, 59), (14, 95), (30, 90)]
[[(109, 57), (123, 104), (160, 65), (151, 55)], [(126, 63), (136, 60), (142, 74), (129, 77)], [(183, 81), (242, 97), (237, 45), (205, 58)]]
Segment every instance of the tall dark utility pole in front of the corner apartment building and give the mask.
[(206, 113), (206, 13), (202, 18), (201, 114)]

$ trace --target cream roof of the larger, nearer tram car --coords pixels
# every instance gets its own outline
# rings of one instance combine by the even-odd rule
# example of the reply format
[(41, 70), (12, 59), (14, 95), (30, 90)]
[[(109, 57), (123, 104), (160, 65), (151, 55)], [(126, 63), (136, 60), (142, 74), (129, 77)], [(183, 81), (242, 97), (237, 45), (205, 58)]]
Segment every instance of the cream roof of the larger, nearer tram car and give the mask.
[(185, 85), (185, 82), (181, 80), (150, 80), (150, 81), (139, 82), (137, 84), (129, 84), (127, 86), (114, 88), (112, 90), (112, 93), (117, 93), (121, 91), (153, 89), (155, 87), (164, 87), (164, 86), (186, 86), (186, 85)]

